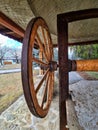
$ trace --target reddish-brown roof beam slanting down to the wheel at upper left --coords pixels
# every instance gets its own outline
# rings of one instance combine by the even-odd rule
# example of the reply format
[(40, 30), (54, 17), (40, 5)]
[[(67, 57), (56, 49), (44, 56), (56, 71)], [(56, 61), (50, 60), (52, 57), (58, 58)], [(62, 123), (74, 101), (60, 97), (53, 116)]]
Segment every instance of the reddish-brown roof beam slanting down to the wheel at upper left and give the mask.
[(18, 34), (19, 36), (24, 37), (25, 31), (15, 22), (9, 19), (6, 15), (4, 15), (2, 12), (0, 12), (0, 24), (12, 30), (14, 33)]

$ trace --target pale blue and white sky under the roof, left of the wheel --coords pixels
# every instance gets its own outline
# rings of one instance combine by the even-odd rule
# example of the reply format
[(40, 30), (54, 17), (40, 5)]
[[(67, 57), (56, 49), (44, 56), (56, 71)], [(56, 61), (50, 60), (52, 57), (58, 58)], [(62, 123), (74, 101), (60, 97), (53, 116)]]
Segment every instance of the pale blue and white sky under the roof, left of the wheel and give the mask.
[(22, 44), (18, 41), (15, 41), (11, 38), (8, 38), (6, 36), (3, 36), (0, 34), (0, 45), (1, 46), (7, 46), (10, 48), (22, 48)]

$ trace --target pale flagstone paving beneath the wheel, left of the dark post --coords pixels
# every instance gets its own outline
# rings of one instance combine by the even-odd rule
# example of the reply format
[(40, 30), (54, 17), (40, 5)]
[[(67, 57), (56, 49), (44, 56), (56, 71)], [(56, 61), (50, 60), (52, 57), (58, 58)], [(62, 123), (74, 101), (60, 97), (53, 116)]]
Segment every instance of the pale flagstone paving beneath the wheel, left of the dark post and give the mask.
[[(48, 115), (44, 119), (34, 117), (21, 96), (0, 116), (0, 130), (59, 130), (58, 99), (52, 102)], [(52, 106), (55, 106), (54, 108)]]

